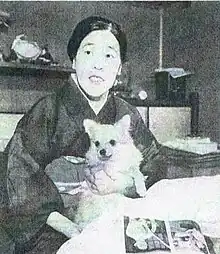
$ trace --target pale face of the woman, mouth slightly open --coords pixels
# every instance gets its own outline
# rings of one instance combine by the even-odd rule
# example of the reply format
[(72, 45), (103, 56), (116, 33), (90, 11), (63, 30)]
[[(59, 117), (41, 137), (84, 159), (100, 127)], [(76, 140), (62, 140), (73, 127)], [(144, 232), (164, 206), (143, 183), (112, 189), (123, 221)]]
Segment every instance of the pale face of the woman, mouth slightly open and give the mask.
[(120, 47), (108, 30), (89, 33), (81, 42), (73, 68), (79, 85), (91, 97), (99, 98), (116, 82), (121, 71)]

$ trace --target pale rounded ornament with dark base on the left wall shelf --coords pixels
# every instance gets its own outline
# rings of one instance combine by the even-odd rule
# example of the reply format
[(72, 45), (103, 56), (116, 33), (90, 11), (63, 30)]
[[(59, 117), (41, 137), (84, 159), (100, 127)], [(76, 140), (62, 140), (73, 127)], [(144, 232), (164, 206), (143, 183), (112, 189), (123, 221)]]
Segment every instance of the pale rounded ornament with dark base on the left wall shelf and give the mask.
[(37, 42), (29, 40), (25, 34), (16, 36), (9, 55), (3, 56), (3, 59), (6, 62), (58, 65), (50, 54), (48, 45), (41, 48)]

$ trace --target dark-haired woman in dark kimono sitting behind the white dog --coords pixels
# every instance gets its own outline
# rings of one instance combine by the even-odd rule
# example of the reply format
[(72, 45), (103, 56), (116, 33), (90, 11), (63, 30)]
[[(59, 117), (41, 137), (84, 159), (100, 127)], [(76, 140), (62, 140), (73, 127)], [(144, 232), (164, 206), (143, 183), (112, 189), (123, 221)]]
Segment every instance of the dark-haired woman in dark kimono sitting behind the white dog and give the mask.
[(116, 23), (101, 17), (78, 23), (67, 47), (76, 73), (56, 94), (38, 101), (18, 123), (5, 150), (8, 215), (2, 222), (15, 242), (16, 254), (54, 253), (69, 237), (53, 221), (54, 212), (68, 214), (55, 182), (83, 179), (80, 167), (59, 158), (84, 157), (89, 147), (85, 118), (115, 123), (130, 114), (132, 137), (144, 155), (141, 171), (149, 176), (146, 186), (164, 176), (156, 165), (160, 147), (154, 136), (137, 110), (110, 92), (117, 85), (126, 49), (125, 35)]

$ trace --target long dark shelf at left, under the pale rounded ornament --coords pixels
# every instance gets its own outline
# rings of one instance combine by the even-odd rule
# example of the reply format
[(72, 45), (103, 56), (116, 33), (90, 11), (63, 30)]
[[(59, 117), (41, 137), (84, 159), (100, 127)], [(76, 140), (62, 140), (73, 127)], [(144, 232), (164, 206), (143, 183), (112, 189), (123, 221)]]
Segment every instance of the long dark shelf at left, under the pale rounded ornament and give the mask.
[(72, 68), (37, 64), (0, 62), (0, 76), (45, 76), (47, 78), (68, 78)]

